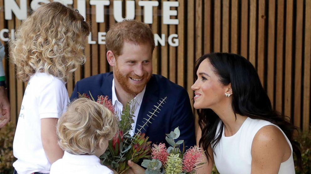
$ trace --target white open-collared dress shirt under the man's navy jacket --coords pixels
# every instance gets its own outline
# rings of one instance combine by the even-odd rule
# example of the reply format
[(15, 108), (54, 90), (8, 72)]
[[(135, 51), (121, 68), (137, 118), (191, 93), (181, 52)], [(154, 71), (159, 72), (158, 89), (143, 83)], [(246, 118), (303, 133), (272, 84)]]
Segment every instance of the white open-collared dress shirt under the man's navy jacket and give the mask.
[[(134, 99), (132, 99), (130, 102), (132, 102), (133, 100), (136, 100), (136, 110), (134, 112), (134, 123), (132, 123), (132, 130), (129, 131), (129, 134), (131, 136), (134, 136), (134, 132), (135, 132), (135, 127), (136, 127), (136, 122), (137, 122), (137, 117), (138, 117), (138, 113), (139, 113), (139, 109), (141, 106), (141, 102), (143, 100), (144, 94), (146, 91), (146, 86), (143, 89), (143, 91), (141, 91), (139, 94), (137, 94)], [(117, 94), (116, 94), (116, 88), (115, 88), (115, 83), (114, 83), (114, 79), (112, 80), (112, 104), (114, 106), (114, 110), (117, 111), (119, 118), (121, 117), (121, 113), (123, 110), (123, 104), (121, 102), (119, 102)]]

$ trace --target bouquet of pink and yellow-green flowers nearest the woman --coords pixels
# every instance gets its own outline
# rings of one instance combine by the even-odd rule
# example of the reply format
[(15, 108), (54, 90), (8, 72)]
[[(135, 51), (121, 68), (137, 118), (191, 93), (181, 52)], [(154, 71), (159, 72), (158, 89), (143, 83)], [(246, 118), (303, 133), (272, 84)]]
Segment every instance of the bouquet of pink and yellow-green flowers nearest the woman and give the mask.
[(183, 147), (182, 152), (180, 145), (184, 143), (179, 140), (175, 143), (180, 135), (180, 131), (175, 128), (170, 134), (166, 134), (166, 141), (171, 146), (166, 149), (164, 143), (159, 145), (153, 144), (151, 152), (151, 160), (142, 162), (142, 166), (146, 167), (146, 174), (194, 174), (197, 172), (198, 166), (204, 164), (201, 162), (203, 159), (203, 150), (200, 147), (190, 147), (186, 152)]

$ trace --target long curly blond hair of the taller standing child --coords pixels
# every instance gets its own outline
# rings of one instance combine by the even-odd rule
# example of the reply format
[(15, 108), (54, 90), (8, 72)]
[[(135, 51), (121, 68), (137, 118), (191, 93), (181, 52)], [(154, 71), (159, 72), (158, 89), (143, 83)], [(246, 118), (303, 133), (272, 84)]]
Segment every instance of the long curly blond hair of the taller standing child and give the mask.
[(17, 29), (10, 41), (16, 76), (28, 81), (36, 71), (67, 80), (86, 61), (83, 53), (89, 24), (73, 8), (59, 2), (42, 5)]

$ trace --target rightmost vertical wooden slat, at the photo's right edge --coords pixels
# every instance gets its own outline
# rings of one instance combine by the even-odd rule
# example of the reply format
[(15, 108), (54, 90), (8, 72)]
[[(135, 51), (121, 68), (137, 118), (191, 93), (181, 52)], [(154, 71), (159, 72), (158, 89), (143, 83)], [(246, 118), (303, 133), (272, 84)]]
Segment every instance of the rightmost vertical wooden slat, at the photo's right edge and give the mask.
[(310, 65), (311, 65), (311, 1), (306, 1), (306, 21), (304, 40), (304, 76), (303, 76), (303, 131), (310, 124)]

